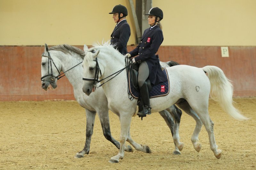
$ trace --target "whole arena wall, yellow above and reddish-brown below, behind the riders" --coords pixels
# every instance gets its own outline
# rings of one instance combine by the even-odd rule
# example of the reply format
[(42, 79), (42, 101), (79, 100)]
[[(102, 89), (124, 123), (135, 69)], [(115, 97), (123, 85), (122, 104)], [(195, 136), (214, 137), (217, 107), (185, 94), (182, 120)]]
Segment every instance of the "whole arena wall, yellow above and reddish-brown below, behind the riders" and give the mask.
[[(115, 27), (108, 12), (116, 4), (128, 10), (129, 51), (136, 33), (128, 0), (0, 0), (0, 101), (74, 100), (65, 77), (55, 90), (41, 88), (41, 45), (82, 49), (108, 41)], [(152, 0), (152, 6), (164, 11), (161, 61), (218, 66), (233, 81), (234, 96), (256, 96), (255, 0)], [(229, 57), (221, 57), (221, 46)]]

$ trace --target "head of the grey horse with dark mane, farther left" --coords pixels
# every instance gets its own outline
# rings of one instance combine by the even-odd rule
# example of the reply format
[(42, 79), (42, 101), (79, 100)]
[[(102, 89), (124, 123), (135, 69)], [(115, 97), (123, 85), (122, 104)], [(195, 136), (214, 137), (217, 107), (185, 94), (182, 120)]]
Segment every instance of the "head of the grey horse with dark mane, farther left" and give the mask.
[[(55, 61), (56, 62), (56, 61)], [(44, 53), (42, 54), (42, 62), (41, 62), (41, 81), (42, 81), (42, 88), (44, 90), (48, 90), (50, 88), (50, 85), (52, 86), (53, 89), (57, 87), (57, 75), (59, 70), (56, 67), (56, 64), (59, 65), (58, 63), (53, 63), (52, 57), (49, 53), (49, 48), (47, 44), (44, 44)]]

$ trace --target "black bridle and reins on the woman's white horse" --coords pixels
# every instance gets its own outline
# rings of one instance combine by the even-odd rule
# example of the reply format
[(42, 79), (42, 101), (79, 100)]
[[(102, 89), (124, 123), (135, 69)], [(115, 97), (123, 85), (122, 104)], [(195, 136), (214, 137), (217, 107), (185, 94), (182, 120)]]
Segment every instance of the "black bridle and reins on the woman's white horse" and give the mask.
[[(90, 52), (95, 53), (94, 50), (92, 50), (92, 51), (90, 51)], [(95, 68), (95, 76), (94, 76), (94, 78), (84, 78), (84, 77), (83, 77), (83, 80), (84, 80), (84, 81), (93, 81), (93, 87), (97, 87), (97, 88), (101, 87), (102, 85), (104, 85), (105, 83), (107, 83), (109, 80), (111, 80), (112, 78), (116, 77), (116, 76), (117, 76), (119, 73), (121, 73), (124, 69), (126, 69), (127, 67), (129, 67), (129, 66), (131, 66), (132, 64), (134, 64), (134, 63), (131, 63), (131, 64), (127, 65), (126, 67), (124, 67), (123, 69), (121, 69), (121, 70), (119, 70), (119, 71), (116, 71), (115, 73), (111, 74), (110, 76), (99, 80), (99, 73), (100, 73), (100, 77), (102, 76), (102, 74), (101, 74), (101, 70), (100, 70), (100, 66), (99, 66), (97, 57), (96, 57), (95, 60), (93, 60), (93, 61), (96, 62), (96, 68)], [(115, 75), (115, 74), (116, 74), (116, 75)], [(100, 83), (101, 81), (103, 81), (103, 80), (105, 80), (105, 79), (107, 79), (107, 78), (109, 78), (109, 77), (111, 77), (111, 76), (113, 76), (113, 75), (115, 75), (115, 76), (112, 77), (112, 78), (110, 78), (108, 81), (102, 83), (101, 85), (97, 86), (98, 83)]]

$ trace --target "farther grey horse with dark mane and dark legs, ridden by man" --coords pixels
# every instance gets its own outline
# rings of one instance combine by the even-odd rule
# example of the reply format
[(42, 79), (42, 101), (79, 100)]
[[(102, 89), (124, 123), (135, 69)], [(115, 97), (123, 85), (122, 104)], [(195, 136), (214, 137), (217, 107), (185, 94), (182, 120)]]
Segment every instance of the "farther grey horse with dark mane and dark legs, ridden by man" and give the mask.
[[(102, 90), (102, 88), (98, 89), (91, 96), (87, 96), (82, 91), (82, 77), (83, 77), (83, 68), (81, 66), (84, 59), (84, 51), (70, 46), (70, 45), (58, 45), (53, 46), (48, 50), (48, 46), (45, 44), (44, 54), (42, 55), (42, 63), (41, 63), (41, 74), (42, 74), (42, 88), (47, 90), (50, 85), (52, 88), (57, 87), (57, 80), (60, 78), (60, 72), (65, 72), (66, 77), (69, 82), (73, 86), (74, 96), (76, 101), (80, 104), (80, 106), (85, 108), (86, 111), (86, 140), (84, 149), (78, 153), (76, 153), (75, 158), (81, 158), (84, 154), (88, 154), (90, 151), (90, 143), (91, 137), (93, 133), (93, 125), (95, 121), (96, 112), (99, 116), (101, 127), (103, 130), (103, 134), (110, 142), (112, 142), (118, 149), (120, 148), (120, 143), (116, 141), (110, 132), (109, 126), (109, 117), (108, 117), (108, 101)], [(166, 63), (162, 63), (164, 66), (168, 66)], [(169, 66), (168, 66), (169, 67)], [(173, 115), (175, 123), (173, 122)], [(181, 111), (175, 106), (171, 106), (166, 110), (162, 110), (159, 112), (160, 115), (164, 118), (166, 124), (170, 128), (173, 136), (173, 129), (175, 130), (175, 137), (179, 142), (179, 124)], [(150, 149), (147, 145), (140, 145), (133, 142), (135, 149), (138, 151), (150, 153)], [(176, 140), (177, 143), (177, 140)], [(183, 143), (179, 142), (178, 146), (175, 144), (175, 149), (173, 151), (174, 154), (180, 154), (180, 151), (183, 148)], [(133, 149), (130, 145), (125, 147), (125, 151), (133, 152)]]

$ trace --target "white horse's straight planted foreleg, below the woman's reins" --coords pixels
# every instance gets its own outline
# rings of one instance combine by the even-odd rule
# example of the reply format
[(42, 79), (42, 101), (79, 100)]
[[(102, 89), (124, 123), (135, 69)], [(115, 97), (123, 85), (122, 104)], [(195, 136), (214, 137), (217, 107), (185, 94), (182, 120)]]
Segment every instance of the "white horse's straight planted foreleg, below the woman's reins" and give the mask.
[(130, 129), (132, 120), (132, 115), (129, 114), (120, 114), (120, 123), (121, 123), (121, 133), (120, 133), (120, 150), (118, 154), (112, 158), (110, 158), (110, 163), (118, 163), (119, 159), (124, 158), (124, 147), (125, 141), (128, 137), (128, 131)]

